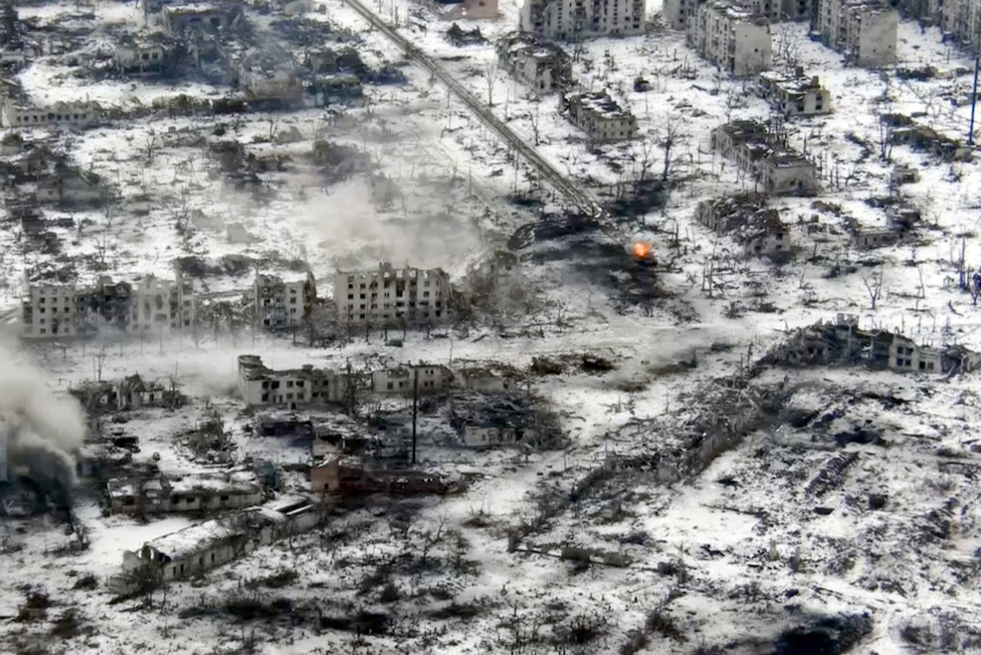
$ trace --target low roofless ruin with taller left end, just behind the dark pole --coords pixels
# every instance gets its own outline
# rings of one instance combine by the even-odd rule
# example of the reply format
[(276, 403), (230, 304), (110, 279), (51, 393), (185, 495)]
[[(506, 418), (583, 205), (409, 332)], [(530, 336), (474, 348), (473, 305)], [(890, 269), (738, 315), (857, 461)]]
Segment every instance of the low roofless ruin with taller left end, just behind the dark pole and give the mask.
[(238, 356), (238, 391), (250, 407), (294, 410), (301, 406), (341, 403), (347, 399), (348, 390), (355, 388), (408, 397), (413, 393), (445, 390), (452, 380), (452, 373), (446, 367), (435, 364), (408, 364), (374, 372), (315, 369), (308, 364), (299, 369), (274, 371), (263, 365), (257, 355)]

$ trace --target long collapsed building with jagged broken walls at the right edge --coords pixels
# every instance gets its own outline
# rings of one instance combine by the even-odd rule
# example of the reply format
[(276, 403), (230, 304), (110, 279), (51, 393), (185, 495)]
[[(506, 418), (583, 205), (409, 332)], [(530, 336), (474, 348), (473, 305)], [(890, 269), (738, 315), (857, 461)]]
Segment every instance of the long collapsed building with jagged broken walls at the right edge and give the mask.
[(801, 327), (765, 360), (794, 366), (864, 364), (901, 373), (954, 375), (981, 365), (981, 355), (959, 345), (920, 345), (887, 329), (862, 329), (854, 315)]

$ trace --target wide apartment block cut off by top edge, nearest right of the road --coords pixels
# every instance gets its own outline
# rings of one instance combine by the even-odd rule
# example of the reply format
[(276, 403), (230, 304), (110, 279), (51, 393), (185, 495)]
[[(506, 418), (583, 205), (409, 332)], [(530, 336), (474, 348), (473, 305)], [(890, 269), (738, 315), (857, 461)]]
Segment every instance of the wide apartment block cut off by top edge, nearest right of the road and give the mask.
[(525, 0), (521, 30), (554, 39), (643, 34), (645, 0)]

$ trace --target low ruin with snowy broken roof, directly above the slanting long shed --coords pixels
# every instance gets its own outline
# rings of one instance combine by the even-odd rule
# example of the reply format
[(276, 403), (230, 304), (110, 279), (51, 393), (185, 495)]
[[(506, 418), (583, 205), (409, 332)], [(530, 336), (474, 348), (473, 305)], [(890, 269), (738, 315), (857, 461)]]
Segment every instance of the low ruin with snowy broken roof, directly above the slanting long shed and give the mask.
[(263, 497), (262, 487), (249, 473), (159, 475), (106, 483), (113, 514), (222, 511), (256, 505)]

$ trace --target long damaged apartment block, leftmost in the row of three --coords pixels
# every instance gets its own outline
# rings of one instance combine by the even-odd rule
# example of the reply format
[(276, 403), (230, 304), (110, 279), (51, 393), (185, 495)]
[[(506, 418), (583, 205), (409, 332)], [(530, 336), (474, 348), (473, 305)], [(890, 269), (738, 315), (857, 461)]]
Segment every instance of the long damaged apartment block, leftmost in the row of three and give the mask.
[(135, 283), (100, 277), (94, 284), (31, 284), (23, 303), (24, 338), (119, 334), (170, 334), (190, 329), (195, 320), (194, 291), (183, 280), (152, 275)]

